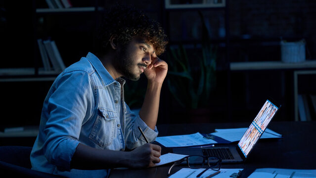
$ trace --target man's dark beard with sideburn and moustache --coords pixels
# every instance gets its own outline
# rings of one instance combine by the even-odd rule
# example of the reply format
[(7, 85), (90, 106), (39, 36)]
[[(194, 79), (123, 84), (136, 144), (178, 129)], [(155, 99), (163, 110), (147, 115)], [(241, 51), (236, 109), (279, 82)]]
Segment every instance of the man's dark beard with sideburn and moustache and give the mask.
[(120, 71), (124, 77), (132, 81), (137, 81), (140, 74), (135, 71), (135, 65), (145, 66), (144, 64), (135, 64), (131, 55), (126, 50), (127, 46), (122, 46), (115, 53), (114, 64), (115, 68)]

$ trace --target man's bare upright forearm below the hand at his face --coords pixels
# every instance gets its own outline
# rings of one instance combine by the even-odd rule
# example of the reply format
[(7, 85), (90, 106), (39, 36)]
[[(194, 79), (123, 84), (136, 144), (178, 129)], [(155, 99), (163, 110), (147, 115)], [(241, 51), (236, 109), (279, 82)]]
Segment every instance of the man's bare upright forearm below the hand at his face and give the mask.
[(152, 130), (155, 129), (157, 123), (161, 87), (161, 83), (148, 81), (145, 99), (139, 111), (140, 118)]

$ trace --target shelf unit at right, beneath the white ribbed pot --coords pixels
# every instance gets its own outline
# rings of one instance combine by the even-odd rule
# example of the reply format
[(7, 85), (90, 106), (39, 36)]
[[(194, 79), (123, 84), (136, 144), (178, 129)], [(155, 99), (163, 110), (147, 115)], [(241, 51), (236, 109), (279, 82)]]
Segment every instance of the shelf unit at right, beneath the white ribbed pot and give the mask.
[[(304, 110), (305, 116), (311, 115), (310, 113), (314, 112), (314, 108), (312, 104), (308, 104), (311, 107), (310, 111), (306, 110), (306, 106), (304, 106), (303, 100), (306, 101), (306, 98), (302, 98), (302, 95), (307, 95), (308, 97), (312, 97), (313, 93), (310, 93), (311, 90), (305, 93), (304, 91), (300, 91), (300, 89), (307, 88), (307, 86), (311, 85), (309, 83), (299, 83), (299, 76), (307, 77), (316, 74), (316, 60), (306, 60), (304, 62), (297, 63), (285, 63), (282, 61), (251, 61), (251, 62), (231, 62), (230, 70), (233, 73), (245, 73), (245, 78), (247, 80), (246, 84), (249, 87), (251, 83), (249, 80), (250, 73), (251, 74), (262, 74), (269, 75), (271, 74), (281, 74), (280, 76), (275, 76), (276, 78), (281, 78), (281, 84), (279, 90), (280, 92), (280, 102), (282, 102), (282, 118), (286, 118), (291, 121), (307, 121), (302, 118), (302, 110)], [(279, 73), (277, 73), (279, 72)], [(288, 74), (288, 78), (286, 78), (286, 74)], [(303, 78), (300, 78), (303, 79)], [(288, 86), (285, 87), (285, 86)], [(311, 85), (313, 88), (313, 85)], [(315, 86), (314, 86), (315, 89)], [(289, 92), (290, 91), (290, 92)], [(246, 92), (246, 98), (249, 98), (248, 92)], [(303, 93), (303, 94), (302, 94)], [(315, 94), (315, 93), (314, 93)], [(286, 103), (288, 100), (290, 103)], [(305, 103), (306, 104), (306, 103)], [(280, 113), (280, 114), (281, 114)], [(306, 114), (305, 114), (306, 113)], [(278, 115), (280, 115), (278, 114)], [(306, 118), (306, 117), (305, 117)], [(308, 117), (307, 117), (308, 118)], [(311, 118), (311, 117), (310, 117)], [(312, 119), (313, 120), (313, 119)]]

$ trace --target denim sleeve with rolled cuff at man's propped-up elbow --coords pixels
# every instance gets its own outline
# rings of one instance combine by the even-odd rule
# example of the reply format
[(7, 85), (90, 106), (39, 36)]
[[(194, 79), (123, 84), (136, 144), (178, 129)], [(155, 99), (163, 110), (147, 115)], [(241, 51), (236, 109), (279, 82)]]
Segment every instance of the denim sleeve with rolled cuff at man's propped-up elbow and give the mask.
[(126, 128), (125, 128), (125, 139), (126, 146), (129, 149), (134, 149), (138, 146), (141, 146), (146, 143), (142, 134), (138, 130), (138, 126), (145, 134), (146, 138), (149, 142), (155, 141), (158, 136), (157, 127), (152, 130), (150, 127), (146, 125), (146, 123), (139, 117), (139, 115), (135, 115), (134, 112), (131, 111), (129, 106), (125, 103), (126, 106)]

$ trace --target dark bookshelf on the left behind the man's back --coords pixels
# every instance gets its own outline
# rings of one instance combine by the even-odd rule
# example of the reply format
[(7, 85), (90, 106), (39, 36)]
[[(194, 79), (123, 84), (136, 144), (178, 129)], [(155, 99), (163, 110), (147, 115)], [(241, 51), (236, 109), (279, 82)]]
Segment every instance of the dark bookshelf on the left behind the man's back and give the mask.
[[(0, 3), (5, 10), (1, 17), (6, 20), (0, 23), (2, 126), (38, 127), (45, 96), (61, 72), (45, 70), (38, 40), (54, 41), (65, 67), (80, 60), (88, 53), (83, 48), (93, 46), (91, 35), (98, 20), (97, 12), (104, 10), (97, 1), (76, 0), (74, 7), (62, 9), (47, 8), (45, 0), (21, 1), (19, 5), (10, 0)], [(16, 23), (17, 20), (21, 22)], [(66, 25), (58, 24), (61, 21)], [(34, 129), (25, 132), (30, 133), (29, 137), (36, 136)], [(0, 137), (21, 135), (25, 136), (0, 133)]]

